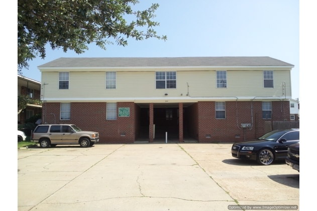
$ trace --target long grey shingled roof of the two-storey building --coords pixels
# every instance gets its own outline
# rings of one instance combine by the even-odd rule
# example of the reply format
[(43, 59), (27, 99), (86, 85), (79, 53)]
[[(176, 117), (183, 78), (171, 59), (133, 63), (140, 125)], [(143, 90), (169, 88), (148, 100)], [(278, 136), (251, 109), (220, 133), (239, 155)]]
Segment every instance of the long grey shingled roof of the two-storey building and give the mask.
[(293, 66), (271, 57), (59, 58), (38, 68)]

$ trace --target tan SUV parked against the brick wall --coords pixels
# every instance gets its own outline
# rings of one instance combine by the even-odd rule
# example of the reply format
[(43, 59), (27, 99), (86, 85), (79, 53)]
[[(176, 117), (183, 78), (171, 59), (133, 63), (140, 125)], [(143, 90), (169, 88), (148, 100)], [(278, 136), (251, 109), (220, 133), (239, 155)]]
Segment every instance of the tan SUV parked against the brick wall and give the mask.
[(99, 133), (82, 131), (73, 124), (43, 124), (35, 128), (31, 141), (40, 143), (42, 148), (57, 144), (80, 144), (81, 147), (88, 147), (99, 141)]

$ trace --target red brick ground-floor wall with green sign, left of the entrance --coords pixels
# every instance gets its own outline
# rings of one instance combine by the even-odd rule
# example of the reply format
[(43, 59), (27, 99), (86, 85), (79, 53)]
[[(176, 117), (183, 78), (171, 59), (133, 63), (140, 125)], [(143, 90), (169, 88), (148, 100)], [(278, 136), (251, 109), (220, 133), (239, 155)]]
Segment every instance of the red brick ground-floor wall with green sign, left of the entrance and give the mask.
[[(129, 107), (129, 117), (119, 117), (118, 108)], [(137, 112), (135, 112), (137, 110)], [(117, 119), (107, 120), (107, 103), (71, 103), (70, 120), (60, 120), (60, 103), (44, 103), (42, 120), (47, 123), (75, 124), (82, 130), (99, 132), (99, 143), (133, 143), (139, 129), (139, 108), (133, 102), (117, 102)], [(139, 115), (138, 115), (139, 116)]]

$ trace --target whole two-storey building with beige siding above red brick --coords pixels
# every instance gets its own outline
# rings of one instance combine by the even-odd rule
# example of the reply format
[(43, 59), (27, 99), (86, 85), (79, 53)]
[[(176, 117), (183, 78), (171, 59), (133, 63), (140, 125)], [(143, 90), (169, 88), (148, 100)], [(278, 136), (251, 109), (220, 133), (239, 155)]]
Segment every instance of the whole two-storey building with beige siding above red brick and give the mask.
[(289, 121), (290, 71), (270, 57), (59, 58), (39, 66), (42, 122), (98, 131), (100, 142), (191, 137), (239, 142)]

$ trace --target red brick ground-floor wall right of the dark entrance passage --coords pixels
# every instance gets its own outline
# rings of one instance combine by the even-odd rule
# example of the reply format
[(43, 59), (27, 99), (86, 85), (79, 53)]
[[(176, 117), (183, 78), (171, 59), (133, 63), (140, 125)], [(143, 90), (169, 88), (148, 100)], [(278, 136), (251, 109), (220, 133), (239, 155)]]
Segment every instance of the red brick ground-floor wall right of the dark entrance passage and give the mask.
[[(272, 101), (272, 120), (290, 121), (288, 103)], [(198, 102), (189, 106), (187, 111), (189, 136), (199, 142), (241, 142), (255, 139), (264, 134), (264, 122), (271, 121), (262, 119), (261, 101), (253, 101), (252, 104), (251, 101), (228, 101), (225, 119), (216, 119), (215, 102)], [(244, 129), (241, 123), (253, 123), (253, 126)]]

